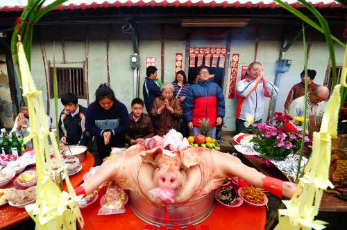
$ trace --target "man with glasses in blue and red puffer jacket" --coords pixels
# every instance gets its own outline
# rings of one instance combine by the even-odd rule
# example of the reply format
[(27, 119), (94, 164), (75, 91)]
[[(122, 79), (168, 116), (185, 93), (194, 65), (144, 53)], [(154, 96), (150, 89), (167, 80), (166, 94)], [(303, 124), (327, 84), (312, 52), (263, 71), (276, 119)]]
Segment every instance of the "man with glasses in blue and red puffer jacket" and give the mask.
[(209, 81), (208, 67), (198, 67), (198, 82), (187, 92), (183, 111), (192, 136), (200, 134), (200, 122), (210, 121), (209, 136), (216, 137), (216, 126), (221, 125), (226, 113), (221, 87)]

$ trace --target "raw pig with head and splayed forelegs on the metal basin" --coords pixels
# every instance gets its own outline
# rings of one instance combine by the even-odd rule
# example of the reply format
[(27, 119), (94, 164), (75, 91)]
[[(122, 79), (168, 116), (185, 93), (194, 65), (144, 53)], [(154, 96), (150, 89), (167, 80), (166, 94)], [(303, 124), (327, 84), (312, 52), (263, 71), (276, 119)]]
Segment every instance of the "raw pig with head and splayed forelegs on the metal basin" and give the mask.
[[(158, 136), (154, 138), (158, 139)], [(181, 205), (210, 193), (228, 177), (241, 177), (254, 186), (263, 186), (264, 175), (230, 154), (190, 145), (179, 149), (174, 143), (172, 146), (176, 151), (173, 152), (165, 149), (162, 143), (165, 141), (149, 150), (144, 144), (133, 145), (114, 159), (105, 161), (99, 172), (82, 184), (86, 193), (113, 180), (152, 204), (166, 206)], [(290, 197), (296, 186), (287, 186), (283, 195)], [(173, 199), (168, 200), (161, 194), (167, 192)]]

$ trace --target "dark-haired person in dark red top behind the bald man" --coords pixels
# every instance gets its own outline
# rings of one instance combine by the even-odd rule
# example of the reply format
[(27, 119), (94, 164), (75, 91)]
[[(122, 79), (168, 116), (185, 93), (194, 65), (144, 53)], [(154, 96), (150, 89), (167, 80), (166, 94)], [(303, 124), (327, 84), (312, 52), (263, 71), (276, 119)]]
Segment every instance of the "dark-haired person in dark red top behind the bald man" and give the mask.
[[(293, 100), (305, 95), (305, 70), (301, 72), (300, 76), (301, 82), (291, 87), (287, 100), (285, 100), (285, 110), (289, 109), (289, 105)], [(319, 87), (319, 85), (313, 82), (314, 77), (316, 77), (316, 71), (314, 69), (307, 69), (307, 89), (309, 92), (314, 87)]]

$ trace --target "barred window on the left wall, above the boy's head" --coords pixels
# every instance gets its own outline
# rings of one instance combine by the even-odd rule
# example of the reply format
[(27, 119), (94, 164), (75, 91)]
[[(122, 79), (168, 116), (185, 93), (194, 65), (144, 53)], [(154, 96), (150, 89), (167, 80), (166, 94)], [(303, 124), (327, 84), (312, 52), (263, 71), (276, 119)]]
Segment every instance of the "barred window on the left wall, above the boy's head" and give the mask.
[[(85, 78), (83, 68), (62, 68), (56, 67), (58, 82), (58, 98), (65, 93), (75, 94), (78, 98), (87, 98), (85, 90)], [(51, 98), (54, 97), (53, 91), (53, 68), (49, 68)]]

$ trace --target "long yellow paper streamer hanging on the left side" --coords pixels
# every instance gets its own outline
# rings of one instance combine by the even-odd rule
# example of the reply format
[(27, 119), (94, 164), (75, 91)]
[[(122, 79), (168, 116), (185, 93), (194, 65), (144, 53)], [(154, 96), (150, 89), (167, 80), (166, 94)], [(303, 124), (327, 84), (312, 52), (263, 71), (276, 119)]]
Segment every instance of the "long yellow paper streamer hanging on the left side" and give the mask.
[[(20, 37), (19, 37), (20, 41)], [(30, 114), (31, 134), (24, 141), (33, 139), (36, 170), (37, 191), (36, 203), (26, 206), (26, 211), (36, 223), (35, 229), (76, 229), (76, 220), (83, 227), (83, 218), (78, 207), (81, 196), (76, 196), (71, 186), (66, 168), (62, 166), (56, 137), (49, 132), (45, 122), (44, 104), (42, 92), (38, 91), (26, 60), (22, 42), (17, 42), (19, 69), (22, 74), (23, 96), (27, 98)], [(51, 159), (49, 151), (48, 136), (51, 138), (54, 153), (58, 162), (60, 172), (65, 174), (65, 180), (69, 193), (60, 192), (60, 188), (48, 175), (52, 175)], [(46, 162), (45, 162), (46, 159)]]

